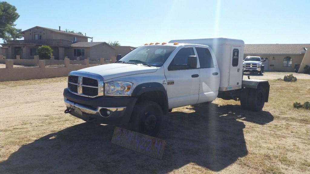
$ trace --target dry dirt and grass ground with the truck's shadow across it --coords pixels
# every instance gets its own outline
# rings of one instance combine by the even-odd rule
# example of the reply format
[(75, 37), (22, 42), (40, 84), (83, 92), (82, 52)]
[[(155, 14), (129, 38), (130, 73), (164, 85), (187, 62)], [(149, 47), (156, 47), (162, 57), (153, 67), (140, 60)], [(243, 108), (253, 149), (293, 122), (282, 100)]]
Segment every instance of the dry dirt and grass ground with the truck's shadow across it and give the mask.
[(222, 99), (173, 109), (162, 160), (112, 144), (114, 126), (64, 114), (66, 77), (0, 82), (0, 173), (310, 173), (310, 111), (292, 106), (309, 101), (309, 79), (270, 80), (261, 112)]

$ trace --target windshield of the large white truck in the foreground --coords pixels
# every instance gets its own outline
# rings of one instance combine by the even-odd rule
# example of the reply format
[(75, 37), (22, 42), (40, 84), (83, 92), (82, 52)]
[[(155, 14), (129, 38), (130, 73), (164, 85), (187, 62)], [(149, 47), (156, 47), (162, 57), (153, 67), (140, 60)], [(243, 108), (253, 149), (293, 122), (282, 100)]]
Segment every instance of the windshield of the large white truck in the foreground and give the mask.
[[(150, 66), (161, 67), (165, 63), (175, 46), (140, 46), (126, 54), (119, 62), (147, 63)], [(143, 64), (143, 63), (142, 63)]]

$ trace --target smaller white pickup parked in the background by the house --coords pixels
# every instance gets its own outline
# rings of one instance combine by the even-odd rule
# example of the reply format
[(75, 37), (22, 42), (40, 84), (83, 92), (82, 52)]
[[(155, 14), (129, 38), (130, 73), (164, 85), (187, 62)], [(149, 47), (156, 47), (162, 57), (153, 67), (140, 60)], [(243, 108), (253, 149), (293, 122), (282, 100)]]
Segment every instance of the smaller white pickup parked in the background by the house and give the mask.
[(264, 72), (263, 62), (267, 59), (262, 60), (259, 56), (247, 56), (243, 61), (243, 72), (258, 72), (262, 75)]

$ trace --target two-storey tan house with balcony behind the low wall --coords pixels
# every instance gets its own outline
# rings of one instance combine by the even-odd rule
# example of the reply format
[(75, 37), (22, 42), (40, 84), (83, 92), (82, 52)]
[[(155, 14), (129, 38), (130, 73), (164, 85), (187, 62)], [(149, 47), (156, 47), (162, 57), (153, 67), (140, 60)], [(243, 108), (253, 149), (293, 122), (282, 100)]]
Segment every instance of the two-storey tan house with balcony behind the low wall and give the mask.
[(88, 42), (91, 37), (62, 31), (60, 27), (52, 29), (36, 26), (24, 30), (22, 33), (24, 40), (12, 40), (2, 44), (2, 55), (6, 59), (15, 59), (16, 55), (20, 55), (21, 59), (33, 59), (38, 54), (38, 47), (41, 45), (50, 46), (55, 59), (64, 59), (65, 56), (72, 60), (77, 57), (80, 60), (86, 58), (90, 58), (90, 60), (110, 59), (112, 56), (126, 52), (122, 50), (122, 53), (118, 53), (106, 42)]

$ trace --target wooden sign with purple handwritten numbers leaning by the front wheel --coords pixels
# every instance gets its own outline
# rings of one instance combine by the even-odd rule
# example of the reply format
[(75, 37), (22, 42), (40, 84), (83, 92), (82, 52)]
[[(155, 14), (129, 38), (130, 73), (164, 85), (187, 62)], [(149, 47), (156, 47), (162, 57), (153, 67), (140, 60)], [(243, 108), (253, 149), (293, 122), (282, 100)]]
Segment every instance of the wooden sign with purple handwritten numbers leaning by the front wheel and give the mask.
[(111, 142), (158, 159), (162, 159), (166, 146), (165, 140), (120, 127), (115, 127)]

